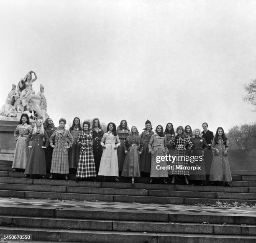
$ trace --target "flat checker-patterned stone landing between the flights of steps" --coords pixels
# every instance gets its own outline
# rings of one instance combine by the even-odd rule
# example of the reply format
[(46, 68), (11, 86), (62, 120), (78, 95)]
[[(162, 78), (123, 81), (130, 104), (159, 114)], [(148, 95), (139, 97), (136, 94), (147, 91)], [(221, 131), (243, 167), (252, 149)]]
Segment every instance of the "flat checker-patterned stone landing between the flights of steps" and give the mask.
[[(103, 202), (103, 201), (81, 201), (81, 200), (51, 200), (51, 199), (30, 199), (30, 198), (9, 198), (0, 197), (0, 208), (3, 206), (24, 206), (27, 208), (38, 209), (107, 209), (129, 210), (141, 212), (168, 212), (168, 213), (189, 213), (198, 215), (207, 213), (207, 215), (233, 215), (233, 216), (251, 216), (256, 219), (256, 207), (212, 207), (205, 205), (176, 205), (176, 204), (157, 204), (157, 203), (121, 203), (121, 202)], [(3, 215), (3, 212), (0, 212)], [(40, 216), (40, 215), (38, 215)], [(47, 215), (46, 215), (47, 217)]]

